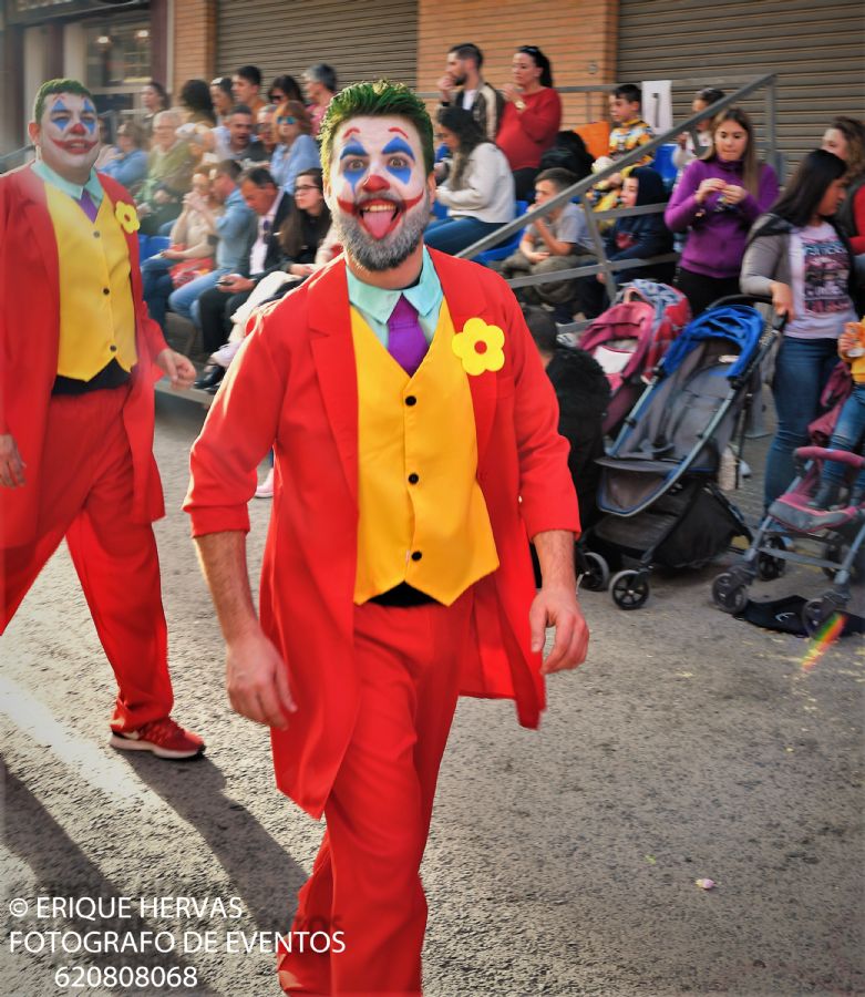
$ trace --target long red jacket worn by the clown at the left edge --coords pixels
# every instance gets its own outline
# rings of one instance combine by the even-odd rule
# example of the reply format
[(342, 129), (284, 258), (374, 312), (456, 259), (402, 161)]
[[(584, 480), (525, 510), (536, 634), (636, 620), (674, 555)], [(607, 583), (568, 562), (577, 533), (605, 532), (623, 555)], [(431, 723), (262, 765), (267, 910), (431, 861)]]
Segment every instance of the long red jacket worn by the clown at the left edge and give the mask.
[[(100, 182), (112, 204), (132, 205), (125, 187)], [(153, 358), (166, 347), (142, 299), (138, 239), (125, 233), (135, 305), (138, 362), (123, 419), (135, 474), (133, 515), (152, 522), (164, 514), (162, 485), (153, 459), (153, 383), (162, 376)], [(58, 245), (42, 181), (32, 166), (0, 176), (0, 433), (11, 433), (27, 464), (22, 489), (0, 487), (0, 547), (33, 538), (42, 475), (48, 405), (58, 369), (60, 282)]]

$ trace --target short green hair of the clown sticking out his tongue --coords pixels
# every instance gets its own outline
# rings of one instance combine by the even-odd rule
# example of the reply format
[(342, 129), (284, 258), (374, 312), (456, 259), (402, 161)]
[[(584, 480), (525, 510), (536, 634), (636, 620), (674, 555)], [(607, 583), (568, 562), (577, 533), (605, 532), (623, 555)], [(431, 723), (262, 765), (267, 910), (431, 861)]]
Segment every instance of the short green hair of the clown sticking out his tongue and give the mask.
[(352, 83), (341, 90), (328, 104), (321, 121), (321, 169), (325, 181), (330, 177), (330, 158), (333, 154), (333, 138), (351, 117), (404, 117), (410, 121), (421, 138), (423, 162), (426, 173), (432, 173), (435, 153), (430, 115), (423, 101), (402, 83), (378, 80), (375, 83)]

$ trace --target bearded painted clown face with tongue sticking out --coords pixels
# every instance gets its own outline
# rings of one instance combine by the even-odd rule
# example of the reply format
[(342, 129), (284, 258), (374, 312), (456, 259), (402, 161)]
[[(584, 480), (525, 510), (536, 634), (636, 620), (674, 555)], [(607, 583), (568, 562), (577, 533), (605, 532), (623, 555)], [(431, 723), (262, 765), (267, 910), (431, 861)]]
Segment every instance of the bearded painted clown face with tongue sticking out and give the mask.
[(418, 246), (430, 186), (414, 126), (402, 117), (352, 117), (333, 142), (329, 204), (343, 246), (361, 266), (399, 266)]

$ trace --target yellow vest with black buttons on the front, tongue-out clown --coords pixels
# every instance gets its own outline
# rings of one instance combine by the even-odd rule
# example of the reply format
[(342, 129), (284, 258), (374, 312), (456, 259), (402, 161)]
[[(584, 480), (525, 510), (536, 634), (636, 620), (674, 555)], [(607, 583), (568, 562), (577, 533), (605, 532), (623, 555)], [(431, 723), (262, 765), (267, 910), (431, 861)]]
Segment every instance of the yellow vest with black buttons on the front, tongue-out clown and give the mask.
[(402, 582), (450, 606), (498, 567), (477, 483), (472, 392), (442, 301), (413, 377), (356, 309), (360, 522), (354, 602)]

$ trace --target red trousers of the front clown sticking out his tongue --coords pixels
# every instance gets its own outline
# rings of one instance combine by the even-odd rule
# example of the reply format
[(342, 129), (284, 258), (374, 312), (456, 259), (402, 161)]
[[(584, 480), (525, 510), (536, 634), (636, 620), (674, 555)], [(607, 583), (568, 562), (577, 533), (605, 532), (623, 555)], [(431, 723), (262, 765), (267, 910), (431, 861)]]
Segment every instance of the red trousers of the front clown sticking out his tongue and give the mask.
[[(471, 593), (451, 607), (354, 611), (358, 720), (325, 805), (327, 832), (279, 957), (290, 994), (421, 993), (420, 865), (451, 729)], [(312, 950), (303, 932), (329, 932)], [(312, 939), (313, 942), (316, 939)]]

